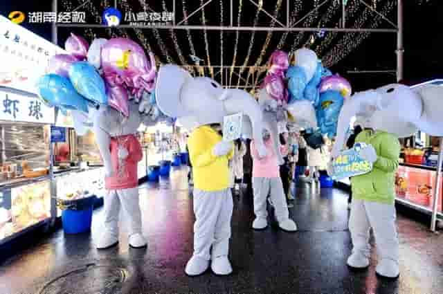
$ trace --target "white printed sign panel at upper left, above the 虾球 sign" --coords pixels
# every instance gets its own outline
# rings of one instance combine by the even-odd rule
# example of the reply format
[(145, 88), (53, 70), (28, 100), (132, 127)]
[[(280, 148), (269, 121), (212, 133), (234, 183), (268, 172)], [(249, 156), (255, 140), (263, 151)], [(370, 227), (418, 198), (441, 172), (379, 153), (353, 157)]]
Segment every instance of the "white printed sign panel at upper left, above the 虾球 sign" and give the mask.
[(0, 86), (37, 93), (35, 84), (55, 54), (66, 51), (0, 16)]

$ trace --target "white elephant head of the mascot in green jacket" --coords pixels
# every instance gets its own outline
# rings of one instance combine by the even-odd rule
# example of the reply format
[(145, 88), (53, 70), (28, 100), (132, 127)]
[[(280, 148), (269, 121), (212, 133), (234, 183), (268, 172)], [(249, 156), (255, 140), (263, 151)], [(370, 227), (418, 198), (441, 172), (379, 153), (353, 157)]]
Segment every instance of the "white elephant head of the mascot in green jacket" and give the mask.
[(416, 131), (443, 136), (443, 88), (425, 85), (417, 89), (389, 84), (379, 89), (354, 94), (345, 100), (338, 118), (337, 138), (332, 157), (340, 153), (345, 132), (353, 116), (363, 127), (386, 131), (405, 138)]

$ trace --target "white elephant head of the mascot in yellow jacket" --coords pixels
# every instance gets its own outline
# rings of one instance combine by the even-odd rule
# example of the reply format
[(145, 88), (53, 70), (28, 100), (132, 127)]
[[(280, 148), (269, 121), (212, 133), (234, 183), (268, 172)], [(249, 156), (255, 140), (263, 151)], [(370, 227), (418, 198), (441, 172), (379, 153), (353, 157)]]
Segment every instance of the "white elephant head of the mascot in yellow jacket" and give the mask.
[(209, 77), (192, 77), (183, 68), (162, 66), (156, 82), (156, 100), (167, 116), (192, 130), (201, 125), (222, 124), (224, 116), (242, 112), (252, 124), (253, 138), (260, 156), (266, 156), (260, 105), (246, 91), (224, 89)]

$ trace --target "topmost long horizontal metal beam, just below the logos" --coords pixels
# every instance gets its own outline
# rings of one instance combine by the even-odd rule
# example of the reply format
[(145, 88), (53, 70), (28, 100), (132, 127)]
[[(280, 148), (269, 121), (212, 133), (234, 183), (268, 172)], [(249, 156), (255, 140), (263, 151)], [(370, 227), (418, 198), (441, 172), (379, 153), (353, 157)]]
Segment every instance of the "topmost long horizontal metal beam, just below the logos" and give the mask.
[[(102, 24), (57, 24), (60, 28), (108, 28)], [(264, 26), (132, 26), (123, 24), (115, 28), (141, 28), (158, 30), (230, 30), (230, 31), (255, 31), (255, 32), (325, 32), (338, 33), (397, 33), (397, 28), (274, 28)]]

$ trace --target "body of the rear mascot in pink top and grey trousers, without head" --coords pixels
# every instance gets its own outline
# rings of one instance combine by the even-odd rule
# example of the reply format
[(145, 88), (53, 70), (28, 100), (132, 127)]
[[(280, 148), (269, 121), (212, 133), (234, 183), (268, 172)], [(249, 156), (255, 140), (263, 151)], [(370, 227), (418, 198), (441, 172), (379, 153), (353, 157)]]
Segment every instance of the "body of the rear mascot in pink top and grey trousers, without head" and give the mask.
[(282, 179), (280, 178), (280, 167), (277, 155), (273, 151), (273, 141), (268, 131), (264, 131), (264, 143), (267, 155), (264, 158), (258, 156), (254, 141), (251, 142), (251, 156), (253, 158), (252, 185), (254, 194), (253, 229), (263, 230), (268, 226), (268, 212), (266, 210), (266, 200), (271, 193), (271, 201), (275, 209), (275, 219), (278, 226), (287, 232), (297, 230), (296, 223), (289, 219), (289, 211), (284, 196)]

